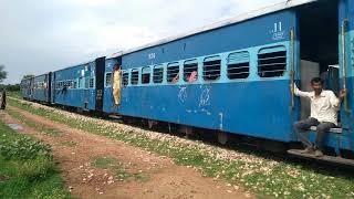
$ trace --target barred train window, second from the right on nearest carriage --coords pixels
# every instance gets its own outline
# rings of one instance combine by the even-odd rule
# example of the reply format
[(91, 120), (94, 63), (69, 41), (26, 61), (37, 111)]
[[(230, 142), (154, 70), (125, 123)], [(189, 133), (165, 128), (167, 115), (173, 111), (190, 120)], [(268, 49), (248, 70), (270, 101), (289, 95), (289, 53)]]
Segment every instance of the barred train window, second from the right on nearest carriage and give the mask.
[(230, 80), (247, 78), (250, 75), (249, 52), (231, 53), (228, 57), (228, 77)]

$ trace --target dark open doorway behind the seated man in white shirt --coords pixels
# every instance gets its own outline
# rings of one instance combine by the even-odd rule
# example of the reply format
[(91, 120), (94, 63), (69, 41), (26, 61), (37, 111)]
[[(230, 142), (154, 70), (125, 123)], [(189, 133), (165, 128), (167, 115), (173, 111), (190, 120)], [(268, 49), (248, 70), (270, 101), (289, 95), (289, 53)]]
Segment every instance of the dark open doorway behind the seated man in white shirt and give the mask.
[[(339, 6), (336, 0), (324, 0), (298, 10), (301, 90), (311, 91), (313, 77), (324, 80), (324, 88), (336, 95), (339, 74)], [(310, 102), (301, 100), (301, 119), (310, 116)]]

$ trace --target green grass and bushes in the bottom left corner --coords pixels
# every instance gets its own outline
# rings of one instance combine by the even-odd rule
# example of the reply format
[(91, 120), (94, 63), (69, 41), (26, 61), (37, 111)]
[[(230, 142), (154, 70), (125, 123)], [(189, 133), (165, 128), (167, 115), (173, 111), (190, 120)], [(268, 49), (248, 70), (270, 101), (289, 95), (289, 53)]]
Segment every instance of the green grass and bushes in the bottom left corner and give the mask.
[(71, 198), (48, 145), (0, 122), (0, 198)]

